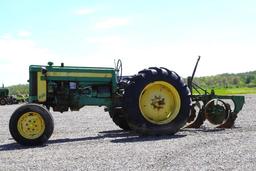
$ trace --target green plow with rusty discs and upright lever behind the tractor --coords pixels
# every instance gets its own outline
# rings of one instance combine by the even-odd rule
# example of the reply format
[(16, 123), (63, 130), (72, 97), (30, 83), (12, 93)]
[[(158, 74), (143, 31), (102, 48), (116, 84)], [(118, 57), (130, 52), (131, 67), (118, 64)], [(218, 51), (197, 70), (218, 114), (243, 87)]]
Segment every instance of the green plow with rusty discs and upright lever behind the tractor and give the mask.
[[(214, 90), (211, 93), (193, 82), (200, 56), (196, 62), (193, 74), (188, 77), (187, 84), (191, 92), (191, 114), (186, 128), (199, 128), (205, 121), (217, 128), (232, 128), (237, 114), (245, 103), (244, 96), (219, 96)], [(193, 90), (197, 92), (193, 95)], [(201, 92), (204, 92), (201, 94)]]

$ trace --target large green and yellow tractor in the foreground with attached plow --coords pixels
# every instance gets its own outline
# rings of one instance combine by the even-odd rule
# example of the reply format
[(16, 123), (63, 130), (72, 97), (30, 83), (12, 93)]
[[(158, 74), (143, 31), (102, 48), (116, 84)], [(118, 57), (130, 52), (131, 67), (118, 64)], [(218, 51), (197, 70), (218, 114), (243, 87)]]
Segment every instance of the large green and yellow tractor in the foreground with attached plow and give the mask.
[[(185, 84), (174, 71), (157, 67), (122, 76), (120, 60), (115, 68), (31, 65), (29, 103), (12, 114), (10, 133), (22, 145), (44, 144), (54, 129), (50, 108), (78, 111), (86, 105), (105, 106), (117, 126), (140, 135), (173, 135), (206, 119), (220, 127), (233, 126), (244, 97), (192, 95), (192, 80)], [(222, 98), (240, 106), (232, 110)], [(224, 105), (216, 103), (219, 100)]]

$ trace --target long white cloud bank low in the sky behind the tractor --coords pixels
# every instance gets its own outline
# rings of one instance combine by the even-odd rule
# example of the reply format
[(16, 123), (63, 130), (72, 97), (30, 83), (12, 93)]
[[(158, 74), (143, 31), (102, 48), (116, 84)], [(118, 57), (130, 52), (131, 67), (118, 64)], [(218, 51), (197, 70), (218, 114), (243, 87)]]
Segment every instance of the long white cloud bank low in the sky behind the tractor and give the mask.
[[(255, 70), (256, 50), (253, 43), (207, 42), (140, 42), (125, 36), (91, 37), (92, 49), (79, 56), (58, 57), (49, 49), (38, 47), (32, 40), (0, 38), (0, 84), (26, 83), (31, 64), (48, 61), (73, 66), (113, 67), (114, 59), (123, 61), (124, 75), (136, 74), (150, 66), (163, 66), (183, 77), (192, 73), (197, 56), (201, 55), (196, 76), (238, 73)], [(74, 60), (75, 59), (75, 60)]]

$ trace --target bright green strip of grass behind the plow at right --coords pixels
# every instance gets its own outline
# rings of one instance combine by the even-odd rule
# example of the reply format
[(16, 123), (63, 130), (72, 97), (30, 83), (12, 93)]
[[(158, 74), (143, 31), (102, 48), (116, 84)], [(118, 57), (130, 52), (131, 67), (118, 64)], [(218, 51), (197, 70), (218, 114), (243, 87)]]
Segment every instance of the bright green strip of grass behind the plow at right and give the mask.
[[(230, 94), (256, 94), (256, 88), (216, 88), (214, 89), (217, 95), (230, 95)], [(210, 92), (210, 91), (209, 91)]]

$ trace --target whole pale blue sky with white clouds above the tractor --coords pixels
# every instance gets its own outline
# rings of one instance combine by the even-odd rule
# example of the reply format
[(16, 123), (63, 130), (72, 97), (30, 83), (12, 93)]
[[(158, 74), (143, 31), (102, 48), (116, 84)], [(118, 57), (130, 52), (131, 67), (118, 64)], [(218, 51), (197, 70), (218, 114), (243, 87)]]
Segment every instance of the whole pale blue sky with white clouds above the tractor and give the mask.
[(253, 0), (1, 0), (0, 82), (30, 64), (164, 66), (186, 77), (256, 70)]

